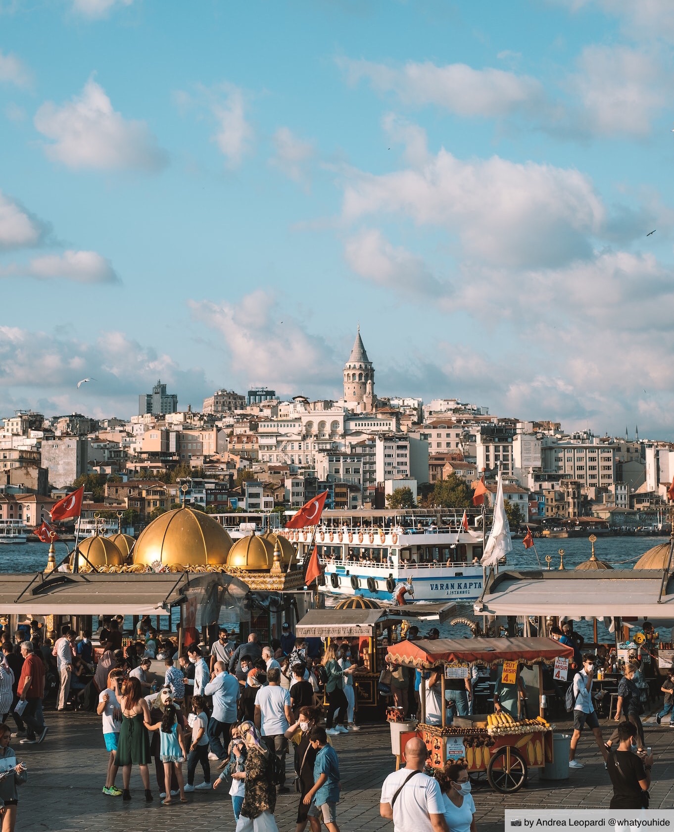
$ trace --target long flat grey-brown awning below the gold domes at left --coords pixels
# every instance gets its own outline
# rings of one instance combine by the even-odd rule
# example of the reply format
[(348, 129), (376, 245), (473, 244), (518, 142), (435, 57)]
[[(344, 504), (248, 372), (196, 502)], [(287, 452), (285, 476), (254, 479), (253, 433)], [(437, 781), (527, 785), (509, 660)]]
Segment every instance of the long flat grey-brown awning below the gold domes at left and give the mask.
[[(230, 592), (235, 578), (224, 577)], [(51, 572), (0, 577), (2, 615), (167, 615), (186, 600), (186, 593), (223, 581), (220, 575), (187, 572), (102, 574)], [(245, 593), (245, 585), (243, 592)], [(238, 587), (237, 587), (238, 589)]]

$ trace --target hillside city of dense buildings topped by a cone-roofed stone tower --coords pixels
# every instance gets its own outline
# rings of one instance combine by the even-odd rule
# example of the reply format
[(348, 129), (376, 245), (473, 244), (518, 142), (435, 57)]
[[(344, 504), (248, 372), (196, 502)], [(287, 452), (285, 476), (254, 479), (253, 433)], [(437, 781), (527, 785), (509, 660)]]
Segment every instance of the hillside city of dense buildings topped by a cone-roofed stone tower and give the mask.
[(636, 426), (569, 434), (483, 404), (379, 396), (374, 376), (358, 331), (338, 401), (219, 389), (197, 412), (158, 380), (131, 418), (17, 411), (0, 429), (0, 519), (37, 525), (81, 485), (82, 518), (131, 526), (181, 503), (282, 512), (326, 490), (326, 508), (470, 506), (482, 476), (489, 506), (500, 468), (514, 527), (662, 531), (672, 443)]

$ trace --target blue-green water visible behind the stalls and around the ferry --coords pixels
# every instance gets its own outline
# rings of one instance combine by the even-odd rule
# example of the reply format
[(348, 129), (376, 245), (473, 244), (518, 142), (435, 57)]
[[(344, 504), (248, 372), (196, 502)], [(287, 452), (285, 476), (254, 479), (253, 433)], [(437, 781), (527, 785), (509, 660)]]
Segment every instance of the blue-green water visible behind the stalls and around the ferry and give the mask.
[[(659, 543), (666, 543), (669, 537), (599, 537), (594, 544), (594, 551), (599, 560), (610, 563), (614, 569), (632, 569), (634, 563), (648, 549), (657, 546)], [(47, 564), (48, 543), (11, 543), (0, 546), (0, 574), (2, 572), (39, 572)], [(576, 567), (578, 563), (587, 561), (592, 554), (592, 546), (587, 537), (560, 537), (548, 538), (538, 537), (536, 549), (541, 560), (541, 566), (547, 568), (546, 555), (553, 558), (550, 563), (551, 569), (559, 566), (558, 550), (564, 550), (564, 566), (567, 569)], [(66, 557), (64, 543), (56, 543), (57, 563)], [(537, 569), (538, 562), (536, 554), (531, 549), (525, 549), (521, 540), (513, 540), (513, 552), (508, 555), (508, 567), (510, 569)], [(457, 616), (473, 617), (473, 603), (459, 602), (457, 605)], [(164, 622), (162, 622), (163, 624)], [(434, 624), (428, 624), (428, 628)], [(422, 632), (427, 628), (422, 626)], [(469, 636), (470, 631), (465, 626), (451, 627), (444, 624), (439, 627), (440, 636), (458, 637)], [(586, 641), (592, 641), (592, 624), (587, 622), (576, 622), (574, 629), (582, 633)], [(612, 636), (599, 622), (599, 640), (605, 642), (614, 641)]]

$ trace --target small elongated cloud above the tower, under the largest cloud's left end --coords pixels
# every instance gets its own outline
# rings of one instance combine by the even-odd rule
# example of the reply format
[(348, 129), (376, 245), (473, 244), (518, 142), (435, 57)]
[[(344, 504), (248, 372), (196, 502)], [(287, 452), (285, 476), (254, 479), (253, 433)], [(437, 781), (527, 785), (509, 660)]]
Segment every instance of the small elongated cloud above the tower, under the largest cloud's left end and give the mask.
[(347, 240), (344, 257), (356, 274), (390, 290), (434, 300), (449, 295), (449, 285), (437, 280), (421, 257), (394, 247), (378, 230), (364, 230)]

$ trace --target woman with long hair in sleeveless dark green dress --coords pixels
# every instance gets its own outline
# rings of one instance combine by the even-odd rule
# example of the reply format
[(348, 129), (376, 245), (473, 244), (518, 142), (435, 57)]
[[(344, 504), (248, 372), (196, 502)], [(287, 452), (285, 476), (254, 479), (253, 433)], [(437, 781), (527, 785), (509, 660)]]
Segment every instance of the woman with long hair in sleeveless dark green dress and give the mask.
[(141, 770), (141, 780), (145, 786), (145, 799), (149, 803), (152, 800), (150, 772), (147, 769), (147, 764), (150, 762), (150, 735), (146, 725), (150, 724), (150, 709), (142, 697), (140, 681), (131, 678), (122, 683), (119, 704), (121, 730), (116, 762), (121, 766), (124, 785), (121, 799), (131, 800), (129, 791), (131, 765), (137, 765)]

